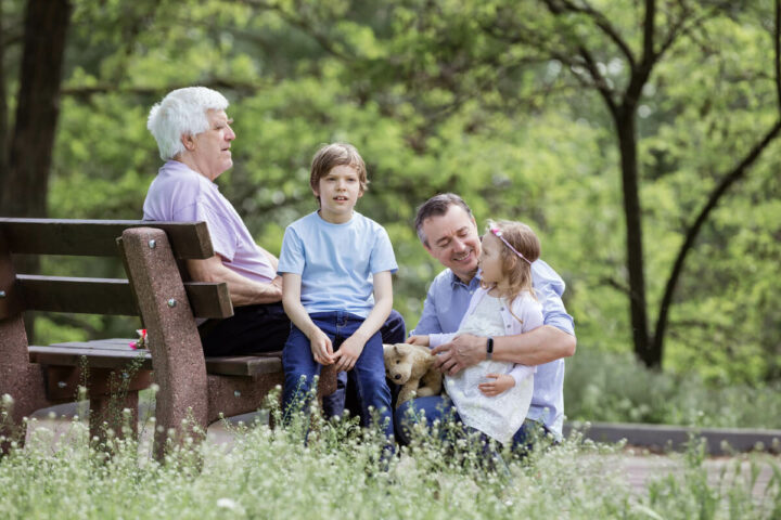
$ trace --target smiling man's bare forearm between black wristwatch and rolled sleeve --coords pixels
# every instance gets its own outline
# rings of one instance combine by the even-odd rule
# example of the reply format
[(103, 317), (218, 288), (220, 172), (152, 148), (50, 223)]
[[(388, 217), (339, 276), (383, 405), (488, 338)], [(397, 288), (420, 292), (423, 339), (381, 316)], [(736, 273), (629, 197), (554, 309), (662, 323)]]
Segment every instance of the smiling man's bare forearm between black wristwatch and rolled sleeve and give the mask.
[(563, 330), (543, 325), (528, 333), (494, 338), (494, 359), (535, 366), (568, 358), (577, 341)]

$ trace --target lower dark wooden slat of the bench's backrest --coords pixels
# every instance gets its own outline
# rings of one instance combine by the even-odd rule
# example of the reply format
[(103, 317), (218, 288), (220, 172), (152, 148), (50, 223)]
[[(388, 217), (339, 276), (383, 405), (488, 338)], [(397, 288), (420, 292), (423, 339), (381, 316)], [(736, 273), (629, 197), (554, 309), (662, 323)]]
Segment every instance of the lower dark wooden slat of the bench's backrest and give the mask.
[[(127, 280), (68, 278), (20, 274), (16, 288), (24, 308), (34, 311), (137, 316), (139, 311)], [(233, 315), (228, 285), (185, 282), (195, 317)], [(8, 317), (0, 315), (0, 318)]]

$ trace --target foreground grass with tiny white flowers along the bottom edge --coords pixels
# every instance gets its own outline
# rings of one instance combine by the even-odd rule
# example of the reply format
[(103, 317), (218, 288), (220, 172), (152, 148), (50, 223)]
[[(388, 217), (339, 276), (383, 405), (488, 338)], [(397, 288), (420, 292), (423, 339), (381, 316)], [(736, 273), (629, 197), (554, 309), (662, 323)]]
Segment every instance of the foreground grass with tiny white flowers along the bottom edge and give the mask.
[[(710, 485), (696, 443), (686, 471), (632, 492), (616, 470), (620, 446), (575, 435), (499, 470), (447, 434), (415, 435), (389, 463), (384, 440), (355, 420), (299, 416), (287, 428), (234, 429), (232, 446), (171, 442), (163, 464), (137, 441), (90, 440), (74, 421), (59, 440), (38, 430), (0, 459), (0, 518), (701, 518), (781, 515), (781, 470), (759, 497), (740, 481)], [(306, 431), (310, 431), (304, 442)], [(446, 455), (447, 454), (447, 455)]]

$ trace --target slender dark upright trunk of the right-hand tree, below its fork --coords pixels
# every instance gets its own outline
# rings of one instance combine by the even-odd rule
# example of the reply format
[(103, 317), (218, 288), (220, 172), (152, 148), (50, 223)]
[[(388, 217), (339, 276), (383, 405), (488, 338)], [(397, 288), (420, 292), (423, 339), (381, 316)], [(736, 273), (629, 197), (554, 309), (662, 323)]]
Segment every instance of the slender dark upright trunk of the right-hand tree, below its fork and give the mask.
[(635, 107), (624, 105), (616, 113), (616, 132), (620, 152), (624, 217), (626, 220), (627, 268), (629, 271), (629, 309), (635, 354), (648, 367), (661, 367), (662, 358), (652, 350), (648, 307), (645, 303), (645, 275), (642, 250), (642, 212), (638, 188), (638, 157)]

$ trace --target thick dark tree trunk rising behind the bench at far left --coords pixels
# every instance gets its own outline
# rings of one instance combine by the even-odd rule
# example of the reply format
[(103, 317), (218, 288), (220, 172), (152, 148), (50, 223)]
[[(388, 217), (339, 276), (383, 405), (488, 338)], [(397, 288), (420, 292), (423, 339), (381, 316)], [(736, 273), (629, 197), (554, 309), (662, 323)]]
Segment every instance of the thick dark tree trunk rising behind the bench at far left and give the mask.
[(69, 21), (66, 0), (27, 2), (16, 117), (0, 186), (5, 217), (46, 216)]

